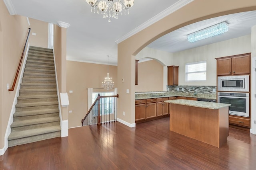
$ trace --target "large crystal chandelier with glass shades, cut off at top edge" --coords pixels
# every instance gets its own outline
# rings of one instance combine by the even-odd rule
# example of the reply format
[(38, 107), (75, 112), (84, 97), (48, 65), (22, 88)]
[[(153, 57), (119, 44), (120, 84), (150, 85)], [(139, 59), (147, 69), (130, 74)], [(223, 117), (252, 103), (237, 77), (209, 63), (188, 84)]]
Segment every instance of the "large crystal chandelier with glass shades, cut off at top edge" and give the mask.
[(108, 22), (111, 22), (110, 18), (118, 19), (118, 13), (124, 10), (124, 15), (126, 14), (126, 10), (128, 10), (129, 14), (129, 8), (134, 5), (134, 0), (85, 0), (90, 6), (91, 6), (91, 12), (92, 8), (94, 8), (94, 13), (97, 11), (99, 14), (99, 11), (101, 11), (101, 14), (103, 18), (108, 18)]

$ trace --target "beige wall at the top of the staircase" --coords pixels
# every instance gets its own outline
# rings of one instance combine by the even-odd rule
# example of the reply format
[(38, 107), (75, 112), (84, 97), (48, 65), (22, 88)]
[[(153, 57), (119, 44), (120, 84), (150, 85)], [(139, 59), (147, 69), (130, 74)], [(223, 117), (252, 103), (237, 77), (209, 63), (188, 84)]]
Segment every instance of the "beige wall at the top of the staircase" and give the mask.
[[(48, 47), (48, 23), (44, 21), (35, 20), (29, 18), (31, 34), (29, 37), (29, 43), (36, 47)], [(32, 35), (36, 33), (36, 35)]]

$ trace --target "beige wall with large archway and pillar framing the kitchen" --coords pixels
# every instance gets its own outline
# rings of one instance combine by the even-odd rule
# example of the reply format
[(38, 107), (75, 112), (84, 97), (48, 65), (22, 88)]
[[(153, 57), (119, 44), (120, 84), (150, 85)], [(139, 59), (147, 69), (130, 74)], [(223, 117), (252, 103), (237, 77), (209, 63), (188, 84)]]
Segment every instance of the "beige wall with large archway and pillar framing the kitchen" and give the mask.
[[(200, 9), (200, 12), (198, 12)], [(118, 92), (120, 94), (118, 102), (118, 112), (126, 112), (125, 116), (118, 114), (118, 118), (126, 121), (130, 126), (135, 123), (135, 57), (146, 45), (158, 39), (162, 35), (174, 31), (185, 25), (206, 20), (209, 18), (256, 10), (256, 1), (254, 0), (194, 0), (183, 8), (176, 10), (160, 21), (150, 25), (146, 29), (129, 37), (118, 44)], [(122, 83), (122, 78), (126, 82)], [(130, 89), (130, 93), (126, 93)]]

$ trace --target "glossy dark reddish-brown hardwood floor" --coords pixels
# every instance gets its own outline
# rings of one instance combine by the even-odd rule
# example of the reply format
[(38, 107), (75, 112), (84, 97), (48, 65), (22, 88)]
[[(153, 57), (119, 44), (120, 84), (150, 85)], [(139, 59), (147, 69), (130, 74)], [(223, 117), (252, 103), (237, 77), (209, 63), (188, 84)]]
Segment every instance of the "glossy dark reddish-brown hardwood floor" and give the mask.
[(0, 170), (255, 170), (256, 135), (230, 128), (221, 148), (169, 131), (169, 118), (129, 128), (109, 123), (10, 147)]

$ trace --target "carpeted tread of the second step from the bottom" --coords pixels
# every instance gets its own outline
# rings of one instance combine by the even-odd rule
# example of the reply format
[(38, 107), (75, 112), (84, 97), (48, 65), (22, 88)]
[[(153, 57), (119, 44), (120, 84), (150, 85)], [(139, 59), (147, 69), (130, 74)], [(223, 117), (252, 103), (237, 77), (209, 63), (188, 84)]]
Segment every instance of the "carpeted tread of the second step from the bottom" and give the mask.
[(54, 122), (54, 121), (60, 121), (60, 117), (58, 117), (58, 116), (44, 117), (44, 118), (38, 118), (38, 119), (14, 121), (11, 125), (11, 128), (28, 126), (28, 125), (36, 125), (36, 124), (41, 124), (41, 123), (49, 123), (49, 122)]

